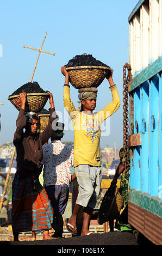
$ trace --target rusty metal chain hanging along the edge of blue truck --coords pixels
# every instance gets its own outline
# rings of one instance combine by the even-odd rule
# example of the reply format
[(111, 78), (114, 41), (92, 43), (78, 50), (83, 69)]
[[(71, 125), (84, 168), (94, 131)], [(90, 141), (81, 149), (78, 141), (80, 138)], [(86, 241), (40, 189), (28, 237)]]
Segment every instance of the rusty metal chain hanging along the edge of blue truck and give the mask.
[[(127, 75), (128, 70), (128, 75)], [(126, 63), (123, 66), (123, 149), (126, 157), (126, 163), (129, 162), (129, 119), (128, 119), (128, 86), (132, 81), (131, 66)]]

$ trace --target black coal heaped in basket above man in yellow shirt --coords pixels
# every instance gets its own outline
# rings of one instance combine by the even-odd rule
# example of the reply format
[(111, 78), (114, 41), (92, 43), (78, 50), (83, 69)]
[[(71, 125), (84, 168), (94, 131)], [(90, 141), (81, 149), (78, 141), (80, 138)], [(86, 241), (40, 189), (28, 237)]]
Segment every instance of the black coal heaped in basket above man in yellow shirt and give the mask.
[(70, 59), (65, 66), (66, 68), (71, 68), (73, 66), (107, 66), (109, 68), (108, 65), (100, 62), (99, 60), (96, 60), (94, 57), (92, 57), (91, 54), (86, 53), (83, 53), (82, 55), (76, 55)]

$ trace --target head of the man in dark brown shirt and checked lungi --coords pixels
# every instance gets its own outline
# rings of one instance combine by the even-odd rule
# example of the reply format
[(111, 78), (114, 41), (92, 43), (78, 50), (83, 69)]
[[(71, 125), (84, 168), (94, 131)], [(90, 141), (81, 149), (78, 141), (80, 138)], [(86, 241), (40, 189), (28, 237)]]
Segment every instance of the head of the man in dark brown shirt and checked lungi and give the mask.
[(26, 131), (30, 134), (35, 136), (38, 132), (39, 126), (39, 117), (38, 115), (29, 114), (27, 117), (27, 124), (26, 124)]

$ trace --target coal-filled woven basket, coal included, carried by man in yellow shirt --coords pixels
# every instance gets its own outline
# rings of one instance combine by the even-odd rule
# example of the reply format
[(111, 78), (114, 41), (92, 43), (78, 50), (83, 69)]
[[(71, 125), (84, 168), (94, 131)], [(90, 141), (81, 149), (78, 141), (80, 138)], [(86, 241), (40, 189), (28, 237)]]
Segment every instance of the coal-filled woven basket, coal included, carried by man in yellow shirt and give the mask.
[(98, 87), (105, 78), (111, 74), (108, 65), (96, 60), (91, 54), (76, 55), (67, 63), (66, 70), (70, 83), (76, 89)]

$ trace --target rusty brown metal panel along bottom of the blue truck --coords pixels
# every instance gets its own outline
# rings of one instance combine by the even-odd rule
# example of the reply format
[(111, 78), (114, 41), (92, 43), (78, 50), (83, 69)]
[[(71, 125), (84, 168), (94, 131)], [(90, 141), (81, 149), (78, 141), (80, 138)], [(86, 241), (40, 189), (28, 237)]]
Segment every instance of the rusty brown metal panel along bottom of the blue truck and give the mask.
[(162, 245), (162, 220), (157, 215), (129, 202), (128, 223), (155, 245)]

